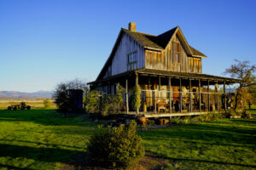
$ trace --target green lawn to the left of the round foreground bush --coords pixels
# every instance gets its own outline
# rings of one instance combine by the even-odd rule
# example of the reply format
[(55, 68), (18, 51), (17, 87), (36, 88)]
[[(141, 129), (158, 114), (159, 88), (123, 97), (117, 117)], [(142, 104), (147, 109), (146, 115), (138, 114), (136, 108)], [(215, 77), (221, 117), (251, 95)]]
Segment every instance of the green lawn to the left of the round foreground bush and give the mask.
[(96, 127), (87, 120), (54, 110), (0, 111), (0, 169), (58, 169), (84, 152)]

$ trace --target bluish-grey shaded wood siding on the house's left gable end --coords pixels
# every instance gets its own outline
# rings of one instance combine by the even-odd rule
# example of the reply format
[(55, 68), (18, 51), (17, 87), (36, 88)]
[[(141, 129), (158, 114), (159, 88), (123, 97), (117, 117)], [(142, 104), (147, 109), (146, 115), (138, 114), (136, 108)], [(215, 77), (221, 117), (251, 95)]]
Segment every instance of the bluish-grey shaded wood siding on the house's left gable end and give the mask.
[[(105, 73), (105, 77), (110, 77), (114, 75), (118, 75), (125, 71), (137, 70), (145, 68), (145, 52), (143, 46), (141, 46), (137, 41), (135, 41), (132, 37), (123, 34), (121, 40), (118, 44), (118, 48), (115, 51), (112, 62), (108, 71)], [(137, 62), (133, 62), (132, 64), (128, 64), (128, 54), (137, 52)]]

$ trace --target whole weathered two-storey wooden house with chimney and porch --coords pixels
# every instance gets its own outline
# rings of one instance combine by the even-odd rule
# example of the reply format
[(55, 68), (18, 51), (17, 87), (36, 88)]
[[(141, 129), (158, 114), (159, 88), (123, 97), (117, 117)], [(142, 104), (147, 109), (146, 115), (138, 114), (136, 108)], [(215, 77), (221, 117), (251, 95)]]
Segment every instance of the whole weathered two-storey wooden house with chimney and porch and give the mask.
[[(114, 94), (118, 84), (125, 87), (127, 113), (132, 110), (129, 103), (135, 85), (142, 88), (140, 111), (144, 113), (225, 109), (225, 85), (237, 80), (203, 74), (205, 58), (189, 45), (179, 26), (154, 36), (136, 31), (131, 22), (129, 29), (121, 28), (102, 71), (89, 84), (104, 94)], [(218, 84), (224, 86), (221, 94)]]

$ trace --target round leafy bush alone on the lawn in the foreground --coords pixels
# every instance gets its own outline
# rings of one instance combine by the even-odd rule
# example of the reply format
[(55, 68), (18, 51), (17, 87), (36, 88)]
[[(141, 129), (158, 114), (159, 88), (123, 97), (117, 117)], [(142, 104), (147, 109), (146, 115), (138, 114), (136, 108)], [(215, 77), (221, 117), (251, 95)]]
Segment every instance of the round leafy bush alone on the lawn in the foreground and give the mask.
[(144, 156), (142, 138), (137, 135), (136, 127), (132, 121), (95, 133), (88, 144), (92, 161), (107, 167), (135, 167)]

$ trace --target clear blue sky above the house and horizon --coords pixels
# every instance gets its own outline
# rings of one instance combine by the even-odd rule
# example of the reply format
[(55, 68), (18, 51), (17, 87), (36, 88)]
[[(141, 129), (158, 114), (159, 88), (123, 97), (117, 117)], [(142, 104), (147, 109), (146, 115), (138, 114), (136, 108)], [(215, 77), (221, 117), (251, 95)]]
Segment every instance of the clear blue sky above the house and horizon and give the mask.
[(0, 91), (94, 81), (130, 21), (154, 35), (180, 26), (208, 56), (205, 74), (224, 76), (234, 59), (256, 63), (255, 0), (0, 0)]

